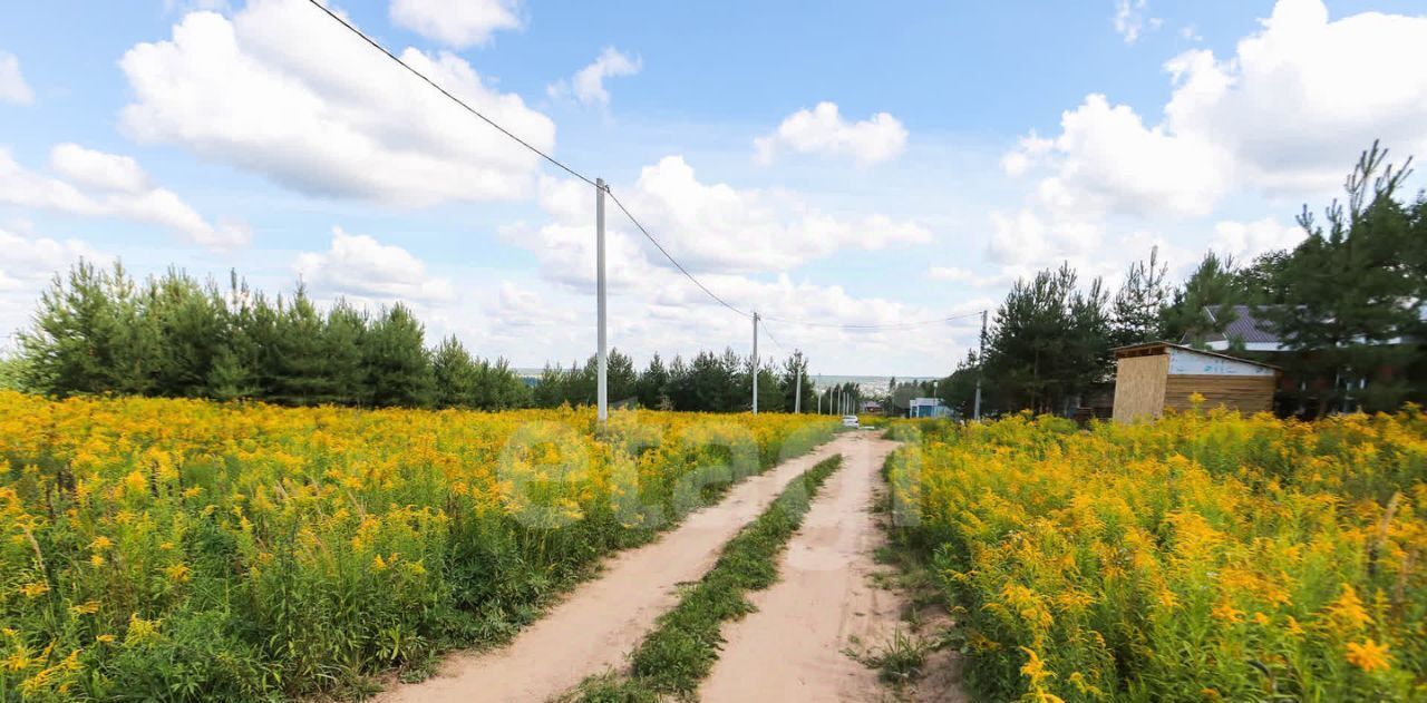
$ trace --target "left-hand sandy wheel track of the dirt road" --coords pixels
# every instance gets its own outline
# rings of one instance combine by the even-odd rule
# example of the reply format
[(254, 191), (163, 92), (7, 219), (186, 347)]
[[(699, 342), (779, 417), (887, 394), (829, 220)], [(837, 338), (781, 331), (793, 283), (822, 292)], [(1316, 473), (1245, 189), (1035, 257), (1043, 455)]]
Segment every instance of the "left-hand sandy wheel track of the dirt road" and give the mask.
[[(676, 586), (696, 580), (723, 543), (802, 472), (833, 453), (856, 455), (866, 439), (843, 435), (733, 486), (662, 539), (621, 552), (604, 573), (522, 630), (508, 646), (450, 657), (437, 676), (397, 686), (381, 703), (542, 702), (589, 674), (622, 669), (655, 617), (678, 603)], [(838, 473), (846, 473), (846, 468)]]

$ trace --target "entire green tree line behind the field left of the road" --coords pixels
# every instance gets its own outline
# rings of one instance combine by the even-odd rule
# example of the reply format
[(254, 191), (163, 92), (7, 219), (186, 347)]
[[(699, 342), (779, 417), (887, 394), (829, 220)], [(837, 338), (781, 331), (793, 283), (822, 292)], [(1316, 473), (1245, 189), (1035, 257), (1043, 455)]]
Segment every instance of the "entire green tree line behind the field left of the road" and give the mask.
[[(792, 411), (816, 396), (802, 352), (758, 374), (759, 409)], [(612, 404), (705, 412), (752, 405), (752, 359), (732, 349), (665, 362), (644, 371), (611, 351)], [(148, 395), (254, 399), (278, 405), (354, 408), (505, 409), (595, 404), (596, 362), (547, 365), (528, 382), (502, 358), (472, 355), (447, 337), (427, 347), (425, 327), (395, 304), (378, 311), (338, 299), (321, 309), (298, 285), (288, 295), (251, 289), (237, 274), (228, 287), (170, 268), (136, 281), (121, 264), (76, 264), (41, 295), (19, 355), (0, 364), (0, 388), (54, 396)]]

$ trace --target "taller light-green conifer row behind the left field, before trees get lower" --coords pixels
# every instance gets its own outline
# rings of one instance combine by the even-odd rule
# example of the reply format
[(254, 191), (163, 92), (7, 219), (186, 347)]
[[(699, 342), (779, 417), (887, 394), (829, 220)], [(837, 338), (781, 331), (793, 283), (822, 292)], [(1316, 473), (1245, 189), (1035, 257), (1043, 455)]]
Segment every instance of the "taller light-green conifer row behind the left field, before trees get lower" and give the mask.
[(228, 291), (178, 270), (136, 282), (121, 264), (56, 277), (20, 334), (23, 384), (81, 394), (257, 399), (281, 405), (481, 408), (529, 404), (504, 359), (455, 338), (435, 351), (402, 304), (323, 312), (298, 285), (268, 298), (233, 275)]

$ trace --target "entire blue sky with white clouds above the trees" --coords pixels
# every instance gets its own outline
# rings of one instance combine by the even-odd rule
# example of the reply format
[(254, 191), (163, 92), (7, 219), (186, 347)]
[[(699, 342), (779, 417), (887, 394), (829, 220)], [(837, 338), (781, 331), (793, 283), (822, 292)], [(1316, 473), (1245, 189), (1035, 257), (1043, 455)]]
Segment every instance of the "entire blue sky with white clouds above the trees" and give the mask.
[[(1421, 0), (325, 4), (608, 181), (812, 374), (945, 375), (1020, 277), (1247, 261), (1373, 140), (1427, 157)], [(582, 362), (594, 222), (591, 185), (308, 0), (0, 4), (4, 344), (84, 258), (402, 301), (432, 344)], [(614, 347), (749, 352), (614, 202), (606, 237)]]

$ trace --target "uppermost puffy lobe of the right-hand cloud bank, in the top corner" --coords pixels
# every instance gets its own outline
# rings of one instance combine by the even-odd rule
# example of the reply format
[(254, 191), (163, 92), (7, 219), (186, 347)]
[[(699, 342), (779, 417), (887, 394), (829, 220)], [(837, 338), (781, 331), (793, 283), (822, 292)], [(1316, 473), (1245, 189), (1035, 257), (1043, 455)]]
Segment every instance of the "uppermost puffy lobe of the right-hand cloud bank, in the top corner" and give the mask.
[(1374, 138), (1427, 151), (1427, 16), (1329, 21), (1320, 0), (1280, 0), (1233, 57), (1190, 51), (1167, 68), (1166, 120), (1214, 138), (1270, 193), (1336, 188)]

